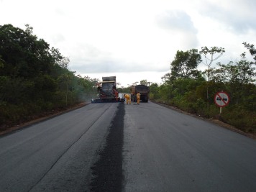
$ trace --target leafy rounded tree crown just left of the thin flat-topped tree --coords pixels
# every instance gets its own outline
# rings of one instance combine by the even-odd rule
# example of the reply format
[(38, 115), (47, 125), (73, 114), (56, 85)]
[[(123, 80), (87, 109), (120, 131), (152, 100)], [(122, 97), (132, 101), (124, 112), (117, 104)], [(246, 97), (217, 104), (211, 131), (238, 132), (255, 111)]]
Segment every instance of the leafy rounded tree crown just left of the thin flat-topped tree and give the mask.
[(201, 55), (198, 50), (192, 49), (186, 52), (178, 50), (175, 60), (170, 63), (170, 79), (200, 78), (201, 73), (196, 69), (199, 63), (201, 63)]

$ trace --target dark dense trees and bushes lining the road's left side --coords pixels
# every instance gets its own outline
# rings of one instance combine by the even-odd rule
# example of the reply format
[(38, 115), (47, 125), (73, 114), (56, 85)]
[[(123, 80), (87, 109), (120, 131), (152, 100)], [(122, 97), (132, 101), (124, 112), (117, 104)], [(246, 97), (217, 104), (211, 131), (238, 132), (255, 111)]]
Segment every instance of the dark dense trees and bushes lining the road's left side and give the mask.
[(91, 99), (96, 80), (76, 76), (69, 59), (12, 24), (0, 26), (0, 130)]

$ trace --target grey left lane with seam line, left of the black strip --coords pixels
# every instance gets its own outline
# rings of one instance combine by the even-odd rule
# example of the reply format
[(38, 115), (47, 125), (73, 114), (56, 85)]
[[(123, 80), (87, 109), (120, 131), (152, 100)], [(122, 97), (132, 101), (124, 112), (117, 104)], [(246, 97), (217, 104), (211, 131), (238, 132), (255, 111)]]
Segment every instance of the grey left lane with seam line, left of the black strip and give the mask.
[(88, 191), (117, 104), (90, 104), (0, 138), (0, 191)]

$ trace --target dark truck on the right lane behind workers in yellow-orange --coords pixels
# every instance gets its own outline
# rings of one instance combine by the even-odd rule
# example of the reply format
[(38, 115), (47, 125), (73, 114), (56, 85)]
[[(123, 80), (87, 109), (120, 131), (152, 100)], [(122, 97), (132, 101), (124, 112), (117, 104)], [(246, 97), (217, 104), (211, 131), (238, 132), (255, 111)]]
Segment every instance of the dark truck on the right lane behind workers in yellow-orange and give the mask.
[(136, 95), (137, 93), (140, 93), (140, 100), (142, 102), (147, 102), (149, 99), (150, 95), (150, 87), (145, 86), (145, 85), (137, 85), (137, 86), (132, 86), (131, 88), (131, 100), (132, 101), (137, 101)]

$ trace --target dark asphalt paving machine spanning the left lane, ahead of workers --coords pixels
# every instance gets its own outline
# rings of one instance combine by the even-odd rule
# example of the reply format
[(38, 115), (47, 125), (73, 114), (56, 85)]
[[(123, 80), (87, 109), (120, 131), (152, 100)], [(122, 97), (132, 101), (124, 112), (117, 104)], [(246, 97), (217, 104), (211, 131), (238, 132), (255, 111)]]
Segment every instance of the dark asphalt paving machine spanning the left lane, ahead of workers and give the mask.
[(119, 97), (116, 90), (116, 76), (102, 77), (97, 85), (98, 96), (92, 99), (91, 103), (106, 103), (106, 102), (124, 102), (124, 98)]

